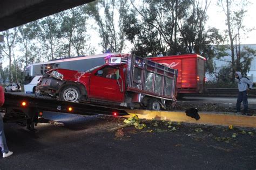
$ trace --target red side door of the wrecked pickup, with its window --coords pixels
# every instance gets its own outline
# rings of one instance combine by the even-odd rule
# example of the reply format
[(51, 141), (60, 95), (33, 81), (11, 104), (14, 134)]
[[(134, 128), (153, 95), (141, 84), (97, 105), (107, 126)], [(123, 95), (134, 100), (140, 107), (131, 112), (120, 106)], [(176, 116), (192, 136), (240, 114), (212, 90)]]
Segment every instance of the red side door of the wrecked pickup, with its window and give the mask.
[(105, 66), (91, 75), (88, 97), (113, 102), (124, 102), (124, 82), (123, 69)]

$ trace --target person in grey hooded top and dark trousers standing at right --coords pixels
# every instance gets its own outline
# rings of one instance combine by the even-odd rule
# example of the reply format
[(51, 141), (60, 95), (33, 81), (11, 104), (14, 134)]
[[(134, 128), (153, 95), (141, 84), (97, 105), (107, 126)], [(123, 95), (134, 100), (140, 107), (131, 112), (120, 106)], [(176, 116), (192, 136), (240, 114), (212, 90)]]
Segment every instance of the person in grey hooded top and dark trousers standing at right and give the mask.
[[(237, 113), (241, 113), (241, 102), (244, 105), (244, 115), (248, 111), (248, 98), (247, 98), (247, 88), (252, 89), (253, 82), (246, 76), (242, 76), (241, 72), (235, 72), (235, 81), (238, 84), (238, 97), (237, 97)], [(250, 115), (251, 116), (251, 115)]]

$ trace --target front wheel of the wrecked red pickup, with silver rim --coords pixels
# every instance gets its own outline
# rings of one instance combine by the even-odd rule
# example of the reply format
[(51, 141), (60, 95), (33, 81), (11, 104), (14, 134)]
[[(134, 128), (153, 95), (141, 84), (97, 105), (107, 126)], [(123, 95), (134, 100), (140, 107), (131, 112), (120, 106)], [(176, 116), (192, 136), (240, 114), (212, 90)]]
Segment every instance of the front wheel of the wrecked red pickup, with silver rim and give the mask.
[(60, 100), (78, 103), (81, 97), (80, 90), (76, 86), (65, 86), (59, 93)]

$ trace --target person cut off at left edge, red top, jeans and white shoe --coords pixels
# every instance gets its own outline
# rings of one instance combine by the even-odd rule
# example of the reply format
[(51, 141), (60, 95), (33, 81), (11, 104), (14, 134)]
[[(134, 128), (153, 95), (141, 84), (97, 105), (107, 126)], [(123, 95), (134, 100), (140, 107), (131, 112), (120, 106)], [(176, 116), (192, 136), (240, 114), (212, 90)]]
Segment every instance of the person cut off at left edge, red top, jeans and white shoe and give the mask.
[[(4, 89), (2, 86), (0, 86), (0, 107), (2, 107), (3, 104), (4, 104)], [(0, 147), (3, 153), (3, 158), (6, 158), (12, 155), (13, 152), (9, 151), (6, 144), (6, 139), (4, 134), (4, 122), (3, 122), (2, 115), (0, 115)]]

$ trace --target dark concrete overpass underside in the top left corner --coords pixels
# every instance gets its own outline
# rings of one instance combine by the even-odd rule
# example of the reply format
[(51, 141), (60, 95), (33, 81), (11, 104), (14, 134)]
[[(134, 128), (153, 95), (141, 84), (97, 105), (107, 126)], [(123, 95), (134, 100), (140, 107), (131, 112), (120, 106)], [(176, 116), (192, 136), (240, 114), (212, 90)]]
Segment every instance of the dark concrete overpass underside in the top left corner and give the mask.
[(1, 0), (0, 31), (11, 29), (53, 13), (93, 0)]

